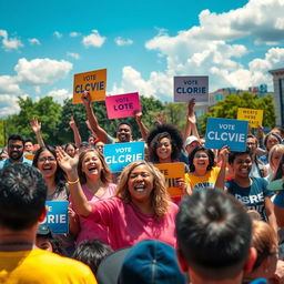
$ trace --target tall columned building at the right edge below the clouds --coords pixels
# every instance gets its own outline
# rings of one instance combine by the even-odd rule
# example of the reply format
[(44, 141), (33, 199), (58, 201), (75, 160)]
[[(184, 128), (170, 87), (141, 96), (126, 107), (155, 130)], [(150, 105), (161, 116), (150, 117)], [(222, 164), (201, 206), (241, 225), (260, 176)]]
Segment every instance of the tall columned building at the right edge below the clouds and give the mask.
[(274, 85), (276, 125), (284, 126), (284, 69), (271, 70)]

